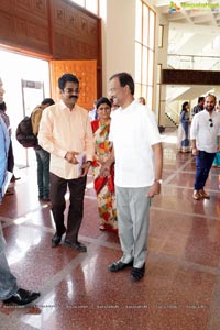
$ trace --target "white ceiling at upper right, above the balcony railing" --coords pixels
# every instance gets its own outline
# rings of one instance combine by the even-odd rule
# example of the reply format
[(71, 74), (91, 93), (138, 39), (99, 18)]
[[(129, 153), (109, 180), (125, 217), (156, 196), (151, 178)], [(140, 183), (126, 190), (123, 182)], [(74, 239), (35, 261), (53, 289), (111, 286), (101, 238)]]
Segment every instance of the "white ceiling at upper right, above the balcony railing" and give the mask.
[[(169, 22), (168, 53), (220, 56), (220, 2), (216, 0), (154, 0), (156, 11)], [(185, 8), (183, 3), (186, 3)], [(187, 7), (188, 6), (188, 7)], [(193, 9), (190, 6), (195, 6)], [(196, 6), (206, 6), (205, 8)], [(209, 6), (218, 6), (211, 10)]]

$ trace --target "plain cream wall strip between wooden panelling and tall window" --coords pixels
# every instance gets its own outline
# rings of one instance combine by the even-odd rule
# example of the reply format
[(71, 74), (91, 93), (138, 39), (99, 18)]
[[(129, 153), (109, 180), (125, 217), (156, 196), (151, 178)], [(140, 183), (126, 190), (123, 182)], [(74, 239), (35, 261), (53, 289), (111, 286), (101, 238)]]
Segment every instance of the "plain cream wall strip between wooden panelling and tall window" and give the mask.
[(102, 0), (103, 96), (112, 74), (135, 73), (135, 0)]

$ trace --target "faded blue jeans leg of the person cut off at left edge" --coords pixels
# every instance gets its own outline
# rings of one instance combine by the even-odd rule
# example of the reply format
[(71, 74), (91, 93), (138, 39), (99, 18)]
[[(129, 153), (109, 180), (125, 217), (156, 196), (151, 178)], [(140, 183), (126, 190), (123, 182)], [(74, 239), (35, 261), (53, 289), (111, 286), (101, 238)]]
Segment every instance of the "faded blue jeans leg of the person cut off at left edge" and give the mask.
[(16, 293), (16, 278), (9, 268), (9, 264), (4, 254), (3, 233), (0, 227), (0, 300), (10, 298)]

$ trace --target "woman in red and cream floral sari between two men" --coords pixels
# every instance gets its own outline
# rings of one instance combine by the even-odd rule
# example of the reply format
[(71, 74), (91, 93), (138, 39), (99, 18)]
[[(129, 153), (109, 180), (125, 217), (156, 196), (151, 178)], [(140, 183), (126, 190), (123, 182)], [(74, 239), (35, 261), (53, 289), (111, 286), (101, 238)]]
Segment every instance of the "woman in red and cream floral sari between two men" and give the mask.
[(116, 195), (114, 195), (114, 167), (109, 177), (100, 176), (101, 165), (108, 160), (112, 150), (109, 141), (111, 102), (107, 98), (97, 101), (99, 119), (91, 121), (95, 135), (96, 152), (92, 162), (94, 186), (97, 193), (98, 210), (100, 217), (100, 230), (118, 231)]

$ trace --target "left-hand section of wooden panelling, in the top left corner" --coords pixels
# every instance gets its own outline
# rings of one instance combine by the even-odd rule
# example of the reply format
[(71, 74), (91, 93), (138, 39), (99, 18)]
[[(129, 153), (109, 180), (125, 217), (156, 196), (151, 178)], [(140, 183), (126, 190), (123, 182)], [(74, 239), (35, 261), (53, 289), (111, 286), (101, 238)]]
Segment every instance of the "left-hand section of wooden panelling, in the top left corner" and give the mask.
[(47, 0), (0, 2), (0, 42), (51, 55)]

